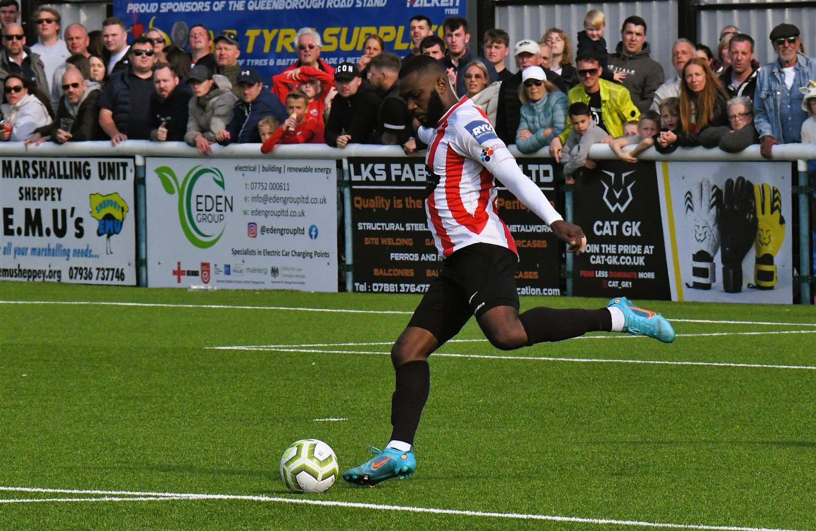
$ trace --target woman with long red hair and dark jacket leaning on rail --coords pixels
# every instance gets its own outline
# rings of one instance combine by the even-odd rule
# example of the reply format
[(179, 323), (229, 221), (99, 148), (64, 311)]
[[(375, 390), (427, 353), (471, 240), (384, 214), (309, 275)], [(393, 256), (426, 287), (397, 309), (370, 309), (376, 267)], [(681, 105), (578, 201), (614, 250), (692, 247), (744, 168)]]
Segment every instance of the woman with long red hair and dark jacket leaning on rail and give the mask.
[(700, 133), (712, 126), (727, 126), (728, 94), (712, 72), (708, 60), (693, 57), (683, 67), (680, 82), (680, 126), (677, 131), (663, 131), (655, 148), (661, 153), (677, 146), (700, 145)]

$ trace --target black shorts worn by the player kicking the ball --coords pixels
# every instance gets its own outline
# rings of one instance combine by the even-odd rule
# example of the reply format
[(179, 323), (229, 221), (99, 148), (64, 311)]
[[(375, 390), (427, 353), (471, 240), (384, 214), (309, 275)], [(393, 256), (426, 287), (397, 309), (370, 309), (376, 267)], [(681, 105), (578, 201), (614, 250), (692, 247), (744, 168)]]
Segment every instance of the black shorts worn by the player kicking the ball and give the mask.
[(428, 330), (441, 345), (459, 334), (470, 316), (478, 318), (497, 306), (518, 309), (517, 263), (512, 250), (489, 243), (457, 250), (445, 260), (408, 325)]

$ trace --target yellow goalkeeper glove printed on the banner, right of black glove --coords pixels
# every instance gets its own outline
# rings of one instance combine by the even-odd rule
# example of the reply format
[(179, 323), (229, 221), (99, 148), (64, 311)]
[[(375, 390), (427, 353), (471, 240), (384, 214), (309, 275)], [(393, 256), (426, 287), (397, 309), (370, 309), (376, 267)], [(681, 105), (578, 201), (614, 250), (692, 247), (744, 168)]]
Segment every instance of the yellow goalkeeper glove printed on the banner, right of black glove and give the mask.
[(754, 201), (756, 201), (756, 261), (754, 263), (754, 282), (759, 290), (773, 290), (776, 285), (776, 266), (774, 256), (785, 239), (785, 218), (782, 216), (782, 196), (779, 188), (773, 191), (769, 184), (754, 184)]

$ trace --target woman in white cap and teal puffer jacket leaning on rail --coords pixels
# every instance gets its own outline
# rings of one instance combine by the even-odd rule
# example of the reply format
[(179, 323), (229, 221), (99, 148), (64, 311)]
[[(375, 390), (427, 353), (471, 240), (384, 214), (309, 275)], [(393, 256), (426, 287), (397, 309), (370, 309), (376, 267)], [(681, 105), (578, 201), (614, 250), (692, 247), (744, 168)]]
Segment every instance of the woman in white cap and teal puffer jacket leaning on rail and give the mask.
[(567, 96), (547, 81), (540, 66), (530, 66), (521, 73), (518, 97), (521, 122), (516, 132), (516, 147), (521, 153), (534, 153), (564, 132)]

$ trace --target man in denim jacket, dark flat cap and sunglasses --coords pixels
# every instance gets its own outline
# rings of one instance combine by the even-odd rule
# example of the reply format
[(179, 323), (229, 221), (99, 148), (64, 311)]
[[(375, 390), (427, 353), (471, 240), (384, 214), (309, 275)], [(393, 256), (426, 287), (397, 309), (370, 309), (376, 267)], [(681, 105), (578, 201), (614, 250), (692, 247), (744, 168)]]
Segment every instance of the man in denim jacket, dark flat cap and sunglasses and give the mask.
[(816, 79), (816, 62), (800, 54), (799, 28), (779, 24), (770, 32), (777, 60), (765, 64), (756, 78), (754, 126), (760, 137), (760, 153), (773, 158), (774, 144), (801, 142), (802, 122), (808, 114), (802, 109), (804, 95), (800, 87)]

